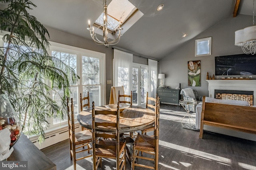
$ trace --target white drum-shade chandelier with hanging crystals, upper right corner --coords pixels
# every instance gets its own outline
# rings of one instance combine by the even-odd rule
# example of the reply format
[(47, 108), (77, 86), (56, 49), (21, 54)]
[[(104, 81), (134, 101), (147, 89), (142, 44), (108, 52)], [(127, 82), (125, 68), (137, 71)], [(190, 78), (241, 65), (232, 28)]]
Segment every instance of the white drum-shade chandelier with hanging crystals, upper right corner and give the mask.
[(235, 45), (242, 47), (245, 54), (256, 53), (256, 25), (254, 25), (254, 0), (253, 0), (253, 26), (235, 31)]

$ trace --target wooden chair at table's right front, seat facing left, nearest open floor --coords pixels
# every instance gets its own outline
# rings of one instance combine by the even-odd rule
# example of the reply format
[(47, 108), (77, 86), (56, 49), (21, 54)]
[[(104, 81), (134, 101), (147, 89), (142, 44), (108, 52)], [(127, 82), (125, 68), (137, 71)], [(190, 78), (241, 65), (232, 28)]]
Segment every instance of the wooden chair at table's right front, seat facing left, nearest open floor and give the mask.
[[(154, 136), (151, 137), (148, 135), (138, 133), (132, 145), (132, 170), (134, 170), (135, 166), (158, 170), (159, 112), (160, 102), (159, 97), (157, 97), (155, 104)], [(153, 155), (153, 158), (152, 156), (149, 157), (147, 154), (139, 156), (139, 151)], [(137, 161), (135, 162), (136, 159)], [(139, 164), (138, 159), (154, 161), (154, 166), (149, 166), (148, 164)]]

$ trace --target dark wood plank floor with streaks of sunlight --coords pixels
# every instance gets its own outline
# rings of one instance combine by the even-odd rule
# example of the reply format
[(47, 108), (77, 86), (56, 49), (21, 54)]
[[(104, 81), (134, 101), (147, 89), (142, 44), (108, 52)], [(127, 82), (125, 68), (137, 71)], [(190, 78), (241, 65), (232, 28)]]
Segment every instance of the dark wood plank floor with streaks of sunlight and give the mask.
[[(182, 128), (188, 121), (180, 121), (183, 107), (161, 104), (160, 108), (159, 170), (256, 170), (256, 142), (207, 132), (199, 139), (198, 131)], [(68, 140), (42, 152), (57, 170), (73, 169)], [(114, 170), (112, 167), (114, 160), (103, 160), (102, 169)], [(77, 161), (77, 169), (92, 170), (92, 158)], [(131, 169), (129, 163), (126, 169)]]

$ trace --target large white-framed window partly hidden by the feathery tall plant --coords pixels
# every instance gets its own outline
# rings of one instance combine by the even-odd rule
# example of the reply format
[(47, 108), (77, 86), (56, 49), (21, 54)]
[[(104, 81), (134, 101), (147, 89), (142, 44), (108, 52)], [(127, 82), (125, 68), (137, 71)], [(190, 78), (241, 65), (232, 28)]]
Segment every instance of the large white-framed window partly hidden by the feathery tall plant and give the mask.
[[(103, 75), (105, 72), (105, 54), (58, 43), (51, 43), (51, 45), (52, 47), (50, 47), (48, 53), (74, 68), (76, 74), (80, 76), (76, 84), (71, 83), (70, 85), (75, 117), (80, 112), (80, 93), (82, 93), (82, 96), (87, 96), (87, 92), (89, 92), (90, 106), (92, 106), (93, 101), (96, 106), (103, 105), (106, 98), (104, 95), (105, 75)], [(63, 94), (63, 92), (58, 93)], [(55, 101), (60, 103), (58, 95), (55, 93), (51, 95)], [(52, 118), (50, 120), (51, 126), (54, 127), (59, 126), (60, 123), (66, 123), (67, 119), (68, 117), (64, 120)]]

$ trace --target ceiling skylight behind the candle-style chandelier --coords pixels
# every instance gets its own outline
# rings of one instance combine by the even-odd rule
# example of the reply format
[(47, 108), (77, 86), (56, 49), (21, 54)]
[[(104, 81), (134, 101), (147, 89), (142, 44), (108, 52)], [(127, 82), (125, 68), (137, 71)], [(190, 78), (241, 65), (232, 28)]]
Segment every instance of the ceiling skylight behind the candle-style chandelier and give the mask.
[[(115, 31), (119, 22), (122, 26), (136, 11), (138, 9), (128, 0), (112, 0), (108, 5), (108, 29)], [(102, 25), (103, 12), (95, 23)]]

